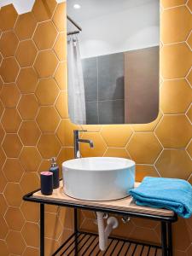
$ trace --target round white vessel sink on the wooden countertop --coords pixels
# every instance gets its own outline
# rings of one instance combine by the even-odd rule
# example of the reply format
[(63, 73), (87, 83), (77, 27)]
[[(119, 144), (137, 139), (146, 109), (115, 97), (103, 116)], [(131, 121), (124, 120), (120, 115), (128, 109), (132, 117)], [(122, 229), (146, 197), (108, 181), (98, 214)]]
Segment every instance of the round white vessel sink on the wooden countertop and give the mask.
[(87, 201), (111, 201), (129, 195), (135, 183), (135, 162), (124, 158), (90, 157), (62, 164), (64, 193)]

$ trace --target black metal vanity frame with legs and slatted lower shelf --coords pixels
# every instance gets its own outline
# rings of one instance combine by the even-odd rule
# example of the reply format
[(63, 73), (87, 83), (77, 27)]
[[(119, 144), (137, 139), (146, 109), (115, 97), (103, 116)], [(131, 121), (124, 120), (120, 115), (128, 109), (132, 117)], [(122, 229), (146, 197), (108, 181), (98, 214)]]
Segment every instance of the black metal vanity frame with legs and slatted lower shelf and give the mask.
[[(150, 250), (153, 248), (154, 256), (157, 255), (158, 250), (162, 251), (162, 256), (172, 256), (172, 223), (177, 221), (177, 214), (174, 214), (172, 217), (166, 217), (166, 216), (159, 216), (159, 215), (152, 215), (152, 214), (145, 214), (141, 212), (128, 212), (128, 211), (121, 211), (113, 208), (104, 208), (104, 207), (92, 207), (92, 206), (84, 206), (81, 204), (75, 204), (75, 203), (69, 203), (69, 202), (62, 202), (62, 201), (52, 201), (52, 200), (46, 200), (46, 199), (40, 199), (37, 197), (34, 197), (33, 194), (38, 192), (39, 189), (32, 191), (26, 195), (23, 196), (24, 201), (32, 201), (40, 204), (40, 256), (44, 256), (44, 205), (55, 205), (59, 207), (72, 207), (74, 208), (74, 233), (72, 236), (70, 236), (67, 241), (65, 241), (61, 247), (59, 247), (55, 253), (52, 254), (52, 256), (58, 256), (58, 255), (79, 255), (79, 251), (83, 249), (84, 246), (87, 246), (84, 253), (81, 255), (90, 255), (90, 256), (97, 256), (100, 254), (100, 250), (98, 249), (98, 241), (96, 245), (92, 248), (90, 253), (86, 253), (89, 250), (90, 245), (95, 242), (95, 239), (98, 235), (90, 233), (90, 232), (83, 232), (79, 230), (78, 225), (78, 209), (88, 210), (88, 211), (94, 211), (94, 212), (108, 212), (113, 214), (119, 214), (127, 217), (133, 217), (133, 218), (148, 218), (154, 221), (159, 221), (161, 224), (161, 245), (152, 245), (148, 243), (138, 242), (138, 241), (131, 241), (116, 237), (109, 237), (109, 245), (107, 248), (107, 251), (103, 253), (102, 255), (106, 255), (108, 253), (108, 249), (110, 247), (110, 250), (112, 249), (110, 255), (113, 256), (125, 256), (125, 255), (134, 255), (134, 253), (137, 250), (137, 246), (142, 246), (142, 250), (140, 255), (142, 256), (143, 249), (147, 249), (148, 255), (150, 253)], [(80, 245), (79, 243), (85, 240), (83, 242), (83, 245)], [(121, 242), (121, 246), (119, 247), (118, 253), (113, 253), (115, 251), (115, 248), (118, 246), (118, 243)], [(126, 252), (124, 254), (121, 253), (123, 250), (123, 247), (126, 246)], [(130, 247), (133, 247), (131, 250), (131, 253), (129, 253)], [(70, 249), (69, 249), (70, 248)], [(68, 252), (69, 251), (69, 252)], [(66, 253), (67, 252), (67, 253)], [(150, 254), (151, 255), (151, 254)]]

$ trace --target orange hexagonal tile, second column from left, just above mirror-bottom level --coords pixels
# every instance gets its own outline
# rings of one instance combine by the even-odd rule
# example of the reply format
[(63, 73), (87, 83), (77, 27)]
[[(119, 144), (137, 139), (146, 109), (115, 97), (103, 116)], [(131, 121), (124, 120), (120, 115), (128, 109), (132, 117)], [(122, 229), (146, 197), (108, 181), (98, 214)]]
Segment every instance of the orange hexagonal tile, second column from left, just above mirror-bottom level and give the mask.
[(22, 95), (18, 105), (18, 110), (24, 120), (34, 119), (38, 113), (38, 101), (32, 94)]

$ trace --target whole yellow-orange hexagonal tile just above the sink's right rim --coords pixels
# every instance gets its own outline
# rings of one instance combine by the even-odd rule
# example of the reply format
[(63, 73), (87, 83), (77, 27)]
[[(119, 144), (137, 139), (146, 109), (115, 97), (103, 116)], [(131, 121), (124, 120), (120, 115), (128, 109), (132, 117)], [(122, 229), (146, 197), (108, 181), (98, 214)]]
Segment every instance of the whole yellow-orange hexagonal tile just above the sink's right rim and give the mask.
[[(138, 146), (139, 145), (139, 146)], [(137, 164), (154, 164), (162, 148), (152, 132), (137, 132), (126, 147)]]

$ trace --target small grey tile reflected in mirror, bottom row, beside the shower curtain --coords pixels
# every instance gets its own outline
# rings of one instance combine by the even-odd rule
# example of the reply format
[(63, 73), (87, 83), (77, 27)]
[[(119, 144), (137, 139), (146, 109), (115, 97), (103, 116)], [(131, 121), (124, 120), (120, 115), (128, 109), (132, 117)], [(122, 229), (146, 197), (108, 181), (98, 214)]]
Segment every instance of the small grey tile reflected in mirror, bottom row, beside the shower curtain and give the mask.
[(86, 124), (98, 125), (97, 102), (86, 102)]

